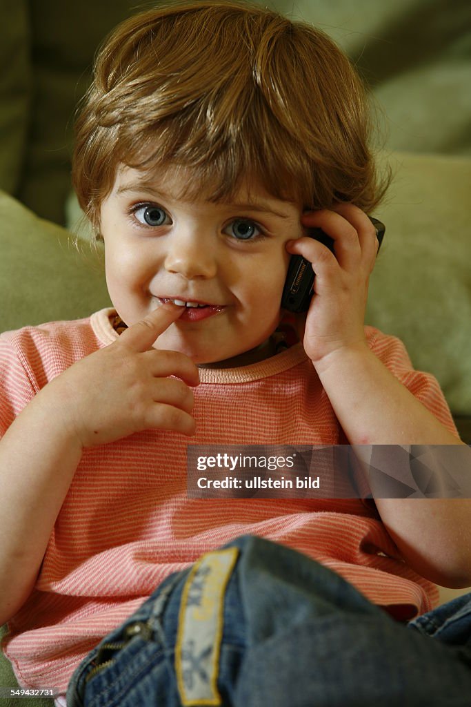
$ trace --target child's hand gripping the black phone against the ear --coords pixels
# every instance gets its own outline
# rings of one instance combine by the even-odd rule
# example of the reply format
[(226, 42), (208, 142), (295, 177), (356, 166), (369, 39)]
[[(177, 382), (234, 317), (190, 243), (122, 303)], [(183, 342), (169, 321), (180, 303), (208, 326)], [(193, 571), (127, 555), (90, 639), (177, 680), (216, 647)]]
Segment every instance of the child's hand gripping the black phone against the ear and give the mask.
[(352, 204), (311, 211), (302, 216), (302, 224), (322, 228), (335, 241), (335, 255), (313, 238), (287, 244), (287, 251), (304, 256), (316, 273), (304, 349), (318, 366), (335, 351), (366, 346), (364, 313), (378, 239), (368, 216)]

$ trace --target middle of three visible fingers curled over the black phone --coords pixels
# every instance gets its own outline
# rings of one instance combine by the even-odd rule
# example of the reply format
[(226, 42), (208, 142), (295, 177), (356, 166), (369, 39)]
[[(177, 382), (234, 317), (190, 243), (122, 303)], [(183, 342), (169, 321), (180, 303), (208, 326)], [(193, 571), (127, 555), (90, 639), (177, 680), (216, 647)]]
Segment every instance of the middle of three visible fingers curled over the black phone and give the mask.
[[(345, 206), (351, 206), (351, 204), (345, 204)], [(345, 213), (345, 210), (343, 213), (337, 213), (334, 209), (311, 211), (303, 214), (302, 225), (308, 229), (321, 228), (326, 235), (332, 238), (333, 250), (340, 267), (350, 270), (358, 266), (362, 250), (357, 230), (345, 218)]]

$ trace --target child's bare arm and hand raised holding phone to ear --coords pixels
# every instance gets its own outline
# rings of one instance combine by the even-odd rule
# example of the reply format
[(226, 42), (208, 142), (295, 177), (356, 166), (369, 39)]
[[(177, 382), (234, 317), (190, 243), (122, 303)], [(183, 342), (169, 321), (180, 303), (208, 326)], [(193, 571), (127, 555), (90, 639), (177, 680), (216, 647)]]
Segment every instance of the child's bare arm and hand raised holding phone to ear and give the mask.
[[(313, 361), (352, 445), (461, 445), (371, 352), (364, 334), (377, 241), (360, 209), (343, 204), (304, 219), (335, 240), (335, 257), (311, 238), (288, 250), (314, 264), (316, 294), (304, 329)], [(470, 453), (471, 474), (471, 453)], [(376, 499), (388, 532), (418, 573), (444, 586), (471, 584), (471, 499)]]

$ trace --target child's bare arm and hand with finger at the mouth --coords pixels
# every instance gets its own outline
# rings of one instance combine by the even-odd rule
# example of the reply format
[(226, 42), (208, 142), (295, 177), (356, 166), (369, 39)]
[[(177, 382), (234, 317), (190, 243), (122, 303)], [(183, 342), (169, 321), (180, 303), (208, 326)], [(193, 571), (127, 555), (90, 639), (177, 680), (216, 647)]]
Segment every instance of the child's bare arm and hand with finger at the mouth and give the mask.
[(32, 591), (83, 448), (148, 428), (194, 433), (186, 383), (198, 385), (198, 369), (184, 354), (152, 348), (182, 311), (163, 305), (75, 363), (0, 440), (0, 625)]

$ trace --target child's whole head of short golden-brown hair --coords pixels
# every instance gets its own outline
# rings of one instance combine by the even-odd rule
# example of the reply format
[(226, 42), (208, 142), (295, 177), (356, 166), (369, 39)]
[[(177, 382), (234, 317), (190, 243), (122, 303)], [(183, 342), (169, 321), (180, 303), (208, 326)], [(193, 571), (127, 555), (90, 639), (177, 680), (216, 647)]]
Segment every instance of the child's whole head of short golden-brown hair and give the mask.
[(73, 185), (97, 228), (119, 163), (192, 170), (181, 197), (244, 177), (303, 209), (378, 204), (369, 96), (325, 33), (238, 0), (159, 5), (105, 40), (76, 122)]

